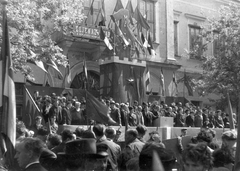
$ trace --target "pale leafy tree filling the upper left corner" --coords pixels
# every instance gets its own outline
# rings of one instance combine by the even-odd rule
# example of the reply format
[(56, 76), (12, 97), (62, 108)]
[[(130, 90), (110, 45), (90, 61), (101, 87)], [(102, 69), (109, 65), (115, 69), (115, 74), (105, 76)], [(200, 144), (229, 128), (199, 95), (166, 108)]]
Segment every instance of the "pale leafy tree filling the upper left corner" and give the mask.
[(83, 0), (8, 0), (6, 6), (13, 66), (33, 79), (27, 61), (53, 60), (66, 66), (67, 58), (52, 40), (56, 31), (70, 34), (85, 18)]

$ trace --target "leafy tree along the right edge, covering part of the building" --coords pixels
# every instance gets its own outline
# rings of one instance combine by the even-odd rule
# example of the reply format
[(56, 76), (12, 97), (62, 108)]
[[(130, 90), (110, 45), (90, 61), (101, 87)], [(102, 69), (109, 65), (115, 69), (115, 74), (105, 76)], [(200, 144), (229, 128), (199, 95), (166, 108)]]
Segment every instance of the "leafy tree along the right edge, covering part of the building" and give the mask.
[[(219, 16), (208, 19), (208, 24), (202, 27), (199, 38), (204, 44), (195, 45), (190, 52), (203, 61), (203, 76), (197, 86), (206, 93), (223, 96), (228, 91), (234, 100), (240, 101), (240, 7), (222, 6)], [(212, 56), (205, 53), (210, 43), (214, 48)]]

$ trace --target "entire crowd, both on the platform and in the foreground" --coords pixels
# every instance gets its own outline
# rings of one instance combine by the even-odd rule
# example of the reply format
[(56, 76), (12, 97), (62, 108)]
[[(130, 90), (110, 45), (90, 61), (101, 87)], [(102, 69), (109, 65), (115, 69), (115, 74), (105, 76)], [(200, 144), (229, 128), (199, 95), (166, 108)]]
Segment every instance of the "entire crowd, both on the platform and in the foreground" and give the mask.
[[(229, 126), (228, 121), (224, 121), (227, 116), (219, 110), (214, 114), (188, 103), (167, 106), (154, 102), (140, 106), (134, 101), (134, 105), (129, 106), (128, 103), (115, 103), (112, 99), (103, 101), (110, 109), (109, 117), (117, 125), (130, 126), (123, 144), (118, 141), (120, 131), (88, 120), (84, 99), (74, 97), (69, 101), (53, 93), (43, 98), (37, 96), (36, 103), (42, 116), (37, 116), (29, 128), (23, 121), (17, 121), (15, 164), (9, 167), (4, 149), (0, 148), (0, 171), (234, 170), (237, 133), (234, 130), (224, 132), (221, 145), (214, 141), (212, 128)], [(146, 140), (146, 126), (152, 126), (154, 119), (164, 116), (173, 117), (175, 126), (201, 127), (200, 132), (184, 147), (182, 139), (187, 129), (182, 129), (176, 144), (177, 152), (166, 148), (158, 131), (150, 132)], [(190, 125), (189, 117), (192, 118)], [(196, 121), (199, 118), (200, 124)], [(58, 125), (64, 124), (80, 126), (74, 131), (65, 128), (59, 133)], [(88, 128), (81, 125), (88, 125)], [(239, 163), (235, 170), (240, 171)]]

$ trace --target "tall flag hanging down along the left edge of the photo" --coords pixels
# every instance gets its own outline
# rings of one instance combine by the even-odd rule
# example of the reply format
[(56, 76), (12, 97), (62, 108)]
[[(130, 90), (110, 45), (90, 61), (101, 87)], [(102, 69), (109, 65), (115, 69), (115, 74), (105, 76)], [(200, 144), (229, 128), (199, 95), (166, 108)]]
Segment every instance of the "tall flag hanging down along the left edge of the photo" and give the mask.
[(11, 169), (14, 155), (13, 148), (16, 141), (16, 94), (15, 84), (13, 81), (13, 64), (10, 53), (8, 21), (5, 4), (3, 4), (2, 12), (2, 47), (0, 56), (0, 129), (2, 136), (5, 136), (3, 139), (4, 142), (6, 142), (6, 146), (3, 146), (1, 143), (1, 149), (4, 149), (3, 155), (7, 160), (6, 164), (9, 165), (8, 169)]

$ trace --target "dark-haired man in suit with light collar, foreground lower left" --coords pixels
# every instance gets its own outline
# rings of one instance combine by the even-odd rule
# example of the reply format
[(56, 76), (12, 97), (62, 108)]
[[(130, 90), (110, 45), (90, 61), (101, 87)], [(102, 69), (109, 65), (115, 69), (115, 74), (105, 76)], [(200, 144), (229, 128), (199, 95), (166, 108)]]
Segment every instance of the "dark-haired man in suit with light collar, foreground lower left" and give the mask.
[(16, 144), (17, 162), (23, 171), (47, 171), (39, 163), (45, 144), (38, 138), (24, 138)]

